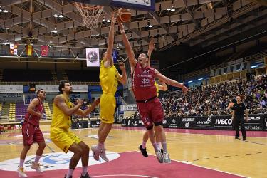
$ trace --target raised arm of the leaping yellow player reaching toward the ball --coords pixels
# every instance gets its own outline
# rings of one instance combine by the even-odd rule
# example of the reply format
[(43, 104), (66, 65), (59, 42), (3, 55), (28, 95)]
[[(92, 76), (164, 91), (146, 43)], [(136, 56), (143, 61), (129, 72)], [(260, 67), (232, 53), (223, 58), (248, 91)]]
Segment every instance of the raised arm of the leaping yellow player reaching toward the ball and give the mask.
[(110, 32), (108, 33), (108, 49), (107, 49), (107, 58), (103, 58), (105, 68), (109, 68), (113, 66), (113, 58), (112, 58), (112, 51), (113, 51), (113, 43), (114, 43), (114, 23), (116, 19), (114, 17), (114, 12), (111, 13), (111, 25), (110, 25)]

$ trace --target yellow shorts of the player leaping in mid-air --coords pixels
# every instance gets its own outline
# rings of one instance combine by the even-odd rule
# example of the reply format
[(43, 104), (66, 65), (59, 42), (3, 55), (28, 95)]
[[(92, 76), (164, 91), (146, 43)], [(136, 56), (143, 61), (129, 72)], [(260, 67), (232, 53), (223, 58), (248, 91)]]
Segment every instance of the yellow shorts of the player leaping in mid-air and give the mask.
[(100, 98), (100, 120), (103, 123), (114, 123), (116, 100), (112, 94), (102, 94)]

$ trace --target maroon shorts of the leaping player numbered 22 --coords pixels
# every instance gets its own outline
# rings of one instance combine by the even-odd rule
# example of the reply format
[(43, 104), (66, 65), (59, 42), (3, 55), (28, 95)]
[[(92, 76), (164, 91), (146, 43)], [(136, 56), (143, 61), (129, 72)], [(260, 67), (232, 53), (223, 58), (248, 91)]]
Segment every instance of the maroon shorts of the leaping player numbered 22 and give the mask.
[(164, 119), (162, 103), (160, 103), (159, 98), (146, 103), (137, 103), (137, 108), (145, 127), (153, 125), (153, 122), (162, 122)]

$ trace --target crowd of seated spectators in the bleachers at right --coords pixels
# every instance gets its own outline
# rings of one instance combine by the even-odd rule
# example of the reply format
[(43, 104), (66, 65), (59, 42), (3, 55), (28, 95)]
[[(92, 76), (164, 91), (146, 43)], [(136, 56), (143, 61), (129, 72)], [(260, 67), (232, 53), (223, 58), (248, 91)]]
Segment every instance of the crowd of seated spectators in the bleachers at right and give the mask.
[(267, 113), (267, 76), (197, 87), (178, 97), (161, 98), (165, 117), (230, 115), (231, 100), (241, 95), (249, 114)]

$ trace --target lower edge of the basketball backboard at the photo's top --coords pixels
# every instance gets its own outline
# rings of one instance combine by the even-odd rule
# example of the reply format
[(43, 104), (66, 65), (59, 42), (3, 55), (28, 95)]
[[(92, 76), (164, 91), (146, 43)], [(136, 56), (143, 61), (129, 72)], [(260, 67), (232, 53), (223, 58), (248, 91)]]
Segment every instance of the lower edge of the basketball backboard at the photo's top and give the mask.
[(68, 0), (84, 4), (122, 7), (141, 11), (155, 11), (155, 0)]

